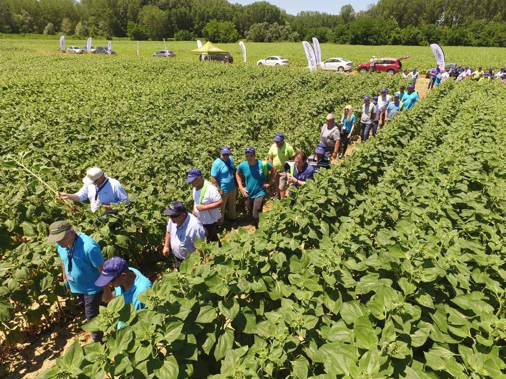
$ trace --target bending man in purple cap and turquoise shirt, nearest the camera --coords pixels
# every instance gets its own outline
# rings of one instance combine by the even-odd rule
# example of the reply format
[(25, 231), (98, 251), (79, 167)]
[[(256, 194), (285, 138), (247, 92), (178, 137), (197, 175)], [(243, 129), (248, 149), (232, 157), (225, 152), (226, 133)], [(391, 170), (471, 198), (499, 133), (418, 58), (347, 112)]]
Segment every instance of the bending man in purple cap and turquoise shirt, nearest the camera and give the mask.
[(132, 303), (135, 310), (145, 308), (137, 298), (151, 288), (151, 281), (120, 257), (112, 257), (104, 262), (102, 274), (95, 281), (98, 287), (114, 287), (116, 296), (123, 295), (125, 304)]

